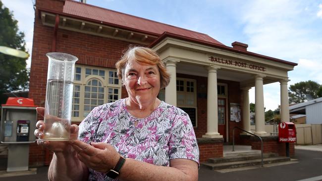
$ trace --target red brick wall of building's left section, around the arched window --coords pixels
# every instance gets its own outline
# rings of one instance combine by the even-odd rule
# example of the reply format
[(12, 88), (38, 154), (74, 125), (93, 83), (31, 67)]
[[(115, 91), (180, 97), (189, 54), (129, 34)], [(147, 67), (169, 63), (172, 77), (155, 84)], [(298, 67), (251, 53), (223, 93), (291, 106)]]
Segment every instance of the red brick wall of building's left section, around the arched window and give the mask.
[[(48, 67), (48, 58), (45, 55), (52, 51), (54, 28), (42, 25), (38, 16), (38, 7), (62, 11), (63, 4), (64, 0), (36, 1), (29, 97), (33, 98), (35, 104), (39, 106), (44, 106), (45, 103)], [(58, 29), (55, 49), (57, 52), (77, 56), (79, 60), (76, 64), (115, 68), (115, 62), (129, 45), (130, 43), (125, 41)], [(126, 95), (126, 90), (122, 89), (122, 97)], [(40, 166), (50, 157), (50, 153), (44, 148), (31, 144), (30, 166)]]

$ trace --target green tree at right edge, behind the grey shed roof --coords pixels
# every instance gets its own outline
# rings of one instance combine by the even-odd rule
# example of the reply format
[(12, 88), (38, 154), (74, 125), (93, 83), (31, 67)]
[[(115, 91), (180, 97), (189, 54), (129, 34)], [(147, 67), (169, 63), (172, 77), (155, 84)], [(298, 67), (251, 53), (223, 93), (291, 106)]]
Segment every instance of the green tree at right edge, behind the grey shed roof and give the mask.
[(289, 103), (301, 103), (308, 99), (316, 99), (319, 97), (321, 87), (320, 84), (314, 81), (299, 82), (291, 85), (288, 90)]

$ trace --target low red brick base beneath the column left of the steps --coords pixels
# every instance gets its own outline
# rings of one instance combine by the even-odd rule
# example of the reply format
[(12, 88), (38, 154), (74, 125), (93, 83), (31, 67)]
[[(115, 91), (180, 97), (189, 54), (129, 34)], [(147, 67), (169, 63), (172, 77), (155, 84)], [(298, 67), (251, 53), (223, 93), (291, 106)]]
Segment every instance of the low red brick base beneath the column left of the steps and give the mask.
[(209, 158), (219, 158), (223, 156), (222, 142), (218, 143), (198, 143), (200, 152), (200, 163), (206, 162)]

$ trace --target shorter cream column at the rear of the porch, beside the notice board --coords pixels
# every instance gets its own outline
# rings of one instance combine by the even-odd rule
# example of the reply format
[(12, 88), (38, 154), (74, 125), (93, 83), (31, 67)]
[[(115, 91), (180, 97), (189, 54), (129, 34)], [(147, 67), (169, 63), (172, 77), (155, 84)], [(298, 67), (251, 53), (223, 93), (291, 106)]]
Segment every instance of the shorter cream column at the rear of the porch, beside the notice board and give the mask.
[(243, 93), (243, 129), (251, 132), (249, 89), (250, 88), (242, 88), (241, 90)]

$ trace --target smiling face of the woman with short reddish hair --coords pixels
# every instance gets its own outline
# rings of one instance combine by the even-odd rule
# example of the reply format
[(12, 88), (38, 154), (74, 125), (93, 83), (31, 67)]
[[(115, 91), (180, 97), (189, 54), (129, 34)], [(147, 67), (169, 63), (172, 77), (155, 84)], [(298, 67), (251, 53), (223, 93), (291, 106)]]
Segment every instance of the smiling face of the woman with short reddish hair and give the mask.
[(124, 86), (130, 100), (140, 107), (154, 104), (160, 91), (158, 66), (129, 60), (124, 71)]

